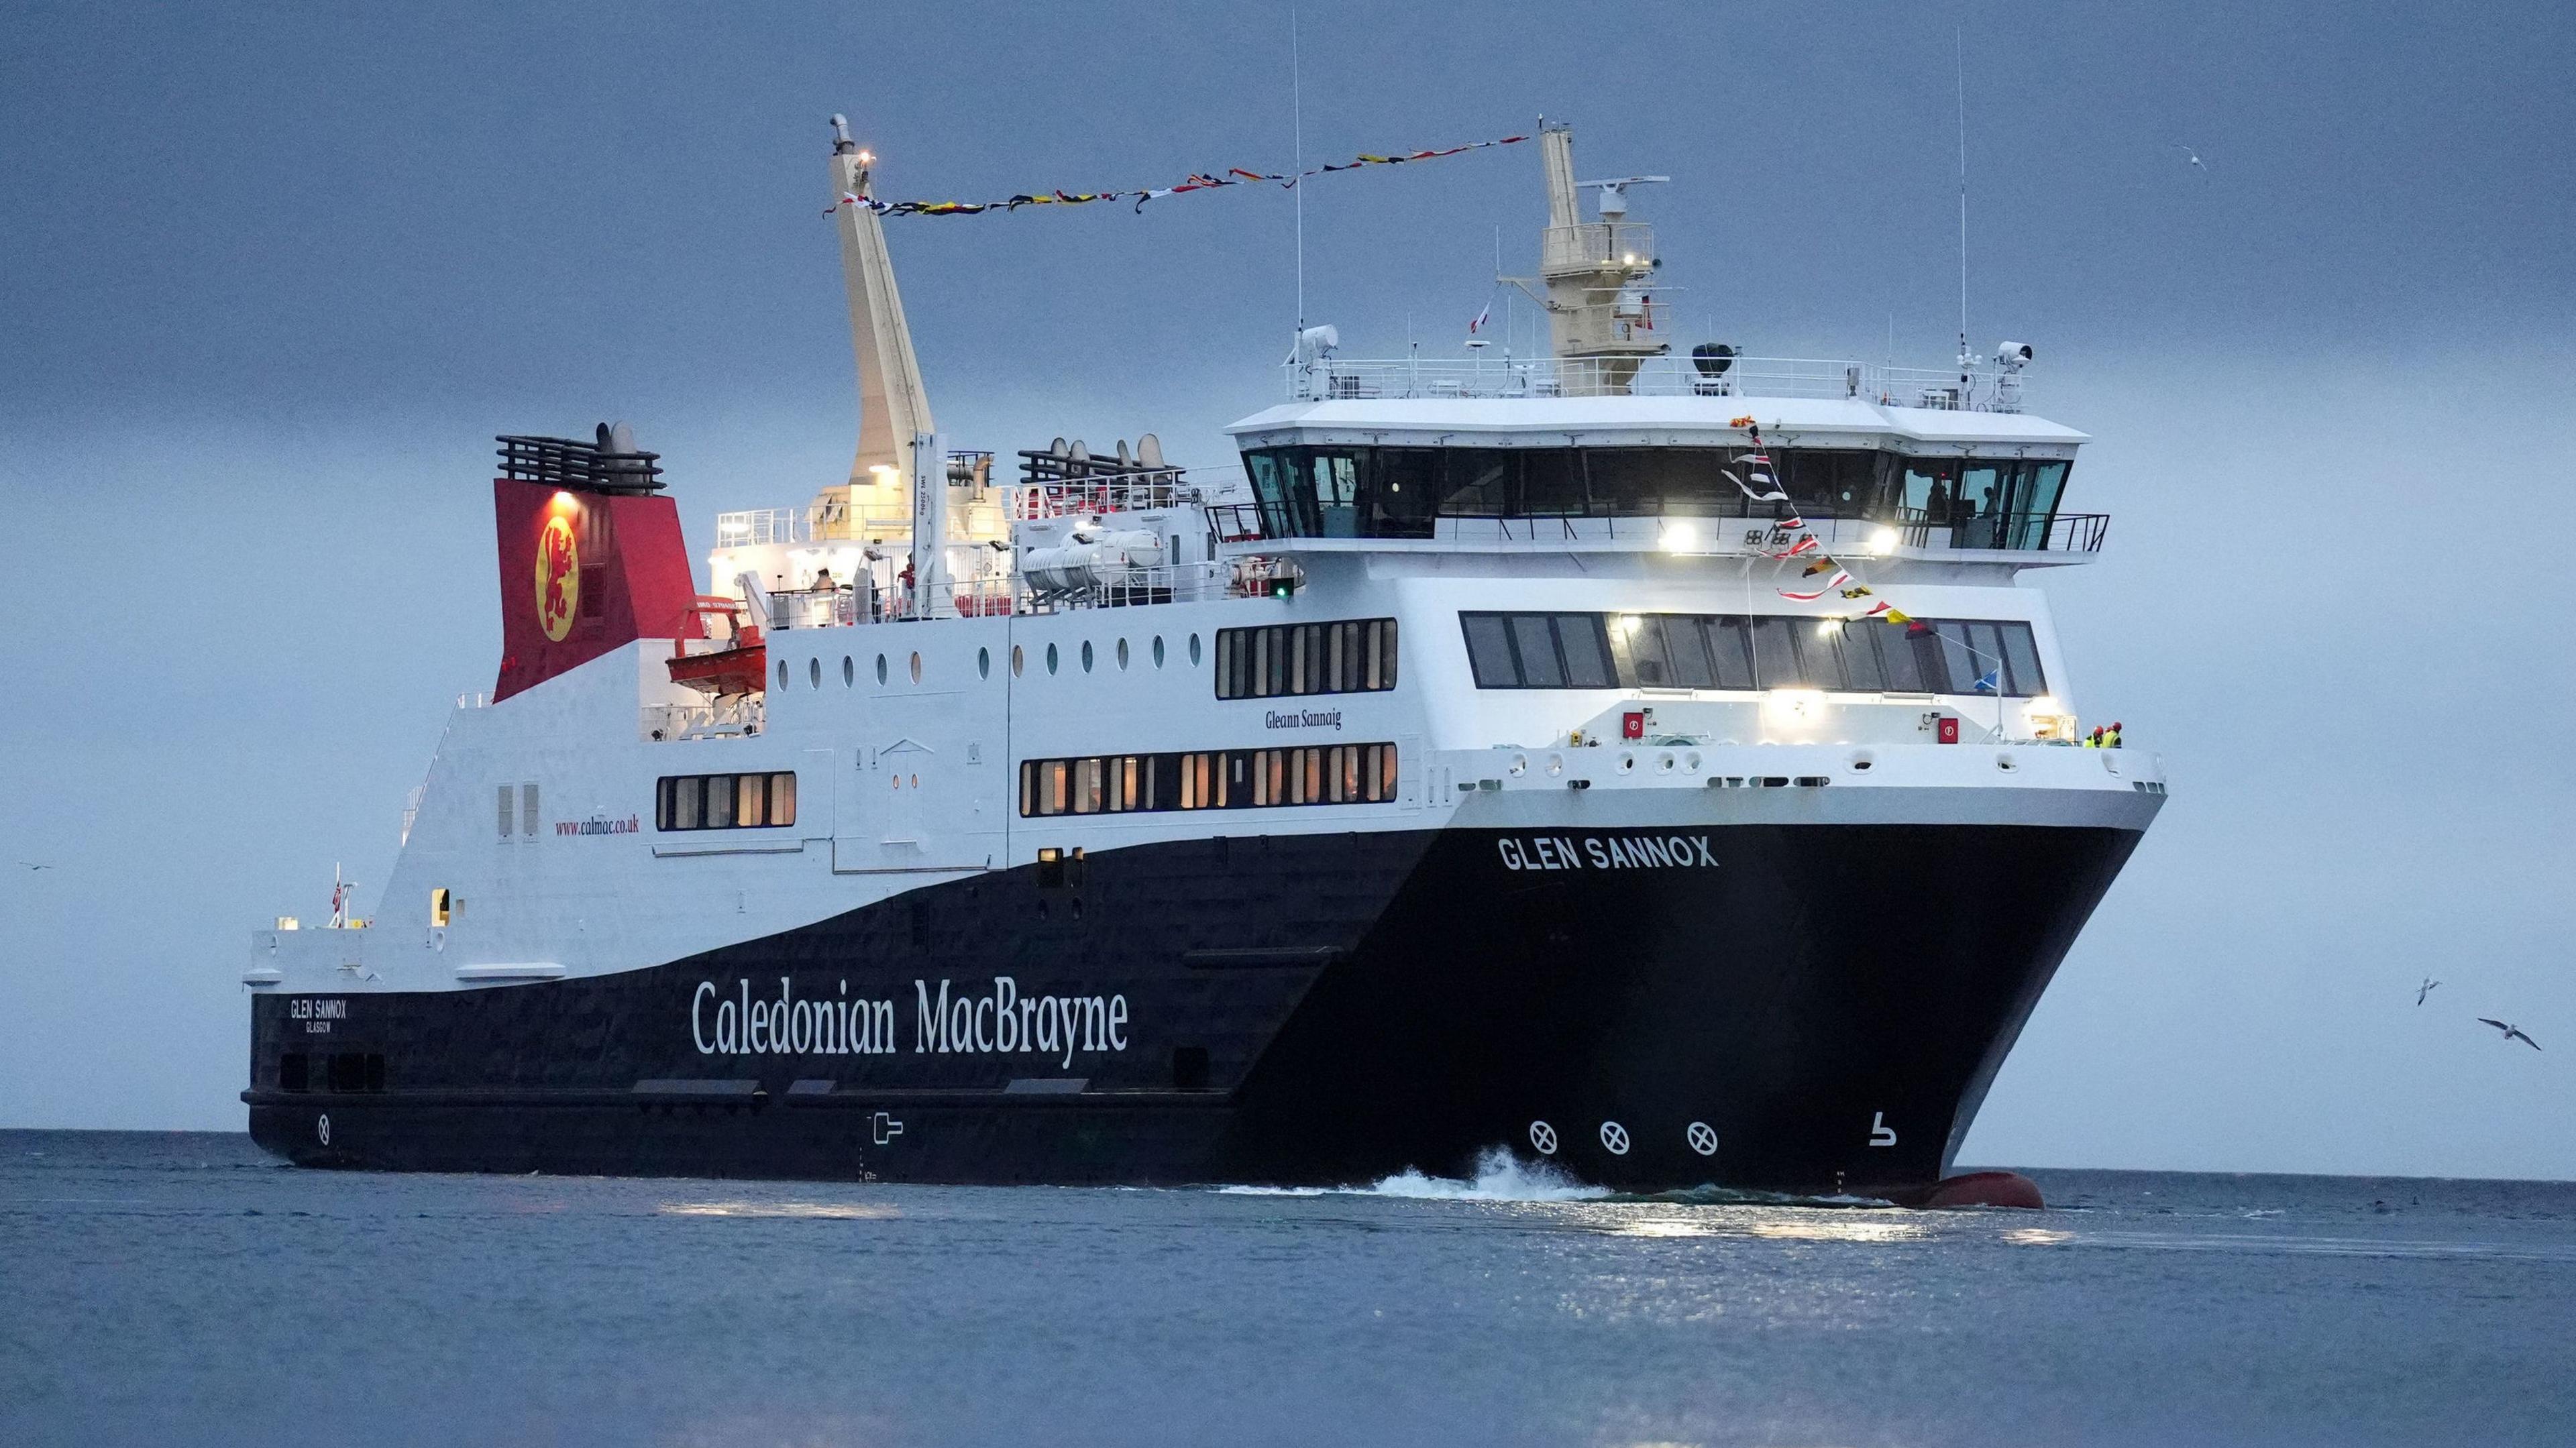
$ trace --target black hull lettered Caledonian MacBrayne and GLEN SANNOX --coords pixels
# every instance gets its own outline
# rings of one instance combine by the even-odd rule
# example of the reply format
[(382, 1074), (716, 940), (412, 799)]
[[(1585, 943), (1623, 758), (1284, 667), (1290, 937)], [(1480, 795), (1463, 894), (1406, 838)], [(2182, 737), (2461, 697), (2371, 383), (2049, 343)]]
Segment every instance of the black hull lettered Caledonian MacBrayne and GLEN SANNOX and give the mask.
[[(263, 995), (245, 1100), (263, 1147), (317, 1167), (1358, 1183), (1512, 1147), (1631, 1190), (1914, 1188), (2136, 843), (1734, 824), (1139, 845), (613, 976)], [(956, 1015), (997, 976), (1097, 1005), (1061, 1010), (1079, 1033), (1043, 1056), (922, 1049), (943, 982), (969, 1041), (1036, 1036), (1046, 1010)], [(781, 997), (824, 1002), (778, 1013), (799, 1046), (889, 1049), (742, 1049), (744, 1002)], [(894, 1010), (853, 1031), (837, 1002), (858, 997)], [(309, 1090), (286, 1090), (289, 1054)]]

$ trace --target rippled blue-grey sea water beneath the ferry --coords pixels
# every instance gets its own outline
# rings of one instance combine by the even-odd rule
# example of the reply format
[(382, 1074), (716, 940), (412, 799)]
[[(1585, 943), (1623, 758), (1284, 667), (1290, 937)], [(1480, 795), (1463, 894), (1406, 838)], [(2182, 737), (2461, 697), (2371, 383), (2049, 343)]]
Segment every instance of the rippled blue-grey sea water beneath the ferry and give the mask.
[(0, 1134), (0, 1443), (2576, 1443), (2576, 1185), (2050, 1211), (309, 1172)]

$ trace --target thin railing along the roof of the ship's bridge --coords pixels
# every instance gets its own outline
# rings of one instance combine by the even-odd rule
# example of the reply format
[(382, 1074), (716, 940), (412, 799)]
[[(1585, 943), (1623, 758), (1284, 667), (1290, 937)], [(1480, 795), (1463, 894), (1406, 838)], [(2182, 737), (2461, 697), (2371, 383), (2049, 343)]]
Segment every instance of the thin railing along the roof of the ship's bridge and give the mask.
[[(1721, 366), (1723, 363), (1723, 366)], [(1291, 361), (1296, 402), (1461, 397), (1826, 397), (1940, 412), (2020, 412), (2020, 376), (1834, 358), (1324, 358)]]

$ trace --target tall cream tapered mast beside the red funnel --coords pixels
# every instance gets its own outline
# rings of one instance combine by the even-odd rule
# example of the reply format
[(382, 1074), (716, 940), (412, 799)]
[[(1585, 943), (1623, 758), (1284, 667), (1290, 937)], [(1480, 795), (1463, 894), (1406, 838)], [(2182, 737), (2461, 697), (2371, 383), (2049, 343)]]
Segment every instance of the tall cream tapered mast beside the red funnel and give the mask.
[[(850, 350), (858, 353), (858, 456), (850, 459), (850, 500), (871, 513), (909, 510), (912, 438), (930, 433), (930, 394), (912, 356), (912, 327), (886, 260), (886, 232), (868, 206), (842, 196), (871, 196), (873, 155), (850, 139), (850, 124), (832, 116), (832, 201), (840, 219), (840, 276), (850, 291)], [(832, 490), (827, 490), (829, 495)]]

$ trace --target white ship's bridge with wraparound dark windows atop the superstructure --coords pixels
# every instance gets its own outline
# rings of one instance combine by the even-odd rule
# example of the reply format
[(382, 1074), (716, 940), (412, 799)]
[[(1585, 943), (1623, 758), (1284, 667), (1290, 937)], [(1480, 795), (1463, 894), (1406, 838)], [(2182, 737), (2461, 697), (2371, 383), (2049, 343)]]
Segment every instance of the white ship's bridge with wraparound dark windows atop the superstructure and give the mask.
[[(1489, 397), (1412, 384), (1396, 397), (1298, 397), (1229, 428), (1252, 502), (1216, 510), (1218, 533), (1265, 551), (1723, 554), (1772, 549), (1772, 526), (1801, 518), (1826, 544), (1932, 562), (2032, 567), (2087, 562), (2102, 546), (2110, 518), (2066, 510), (2084, 433), (2017, 410), (1909, 405), (1873, 392), (1857, 366), (1811, 368), (1834, 381), (1829, 397)], [(1785, 502), (1754, 500), (1728, 477), (1749, 477), (1747, 417)]]

